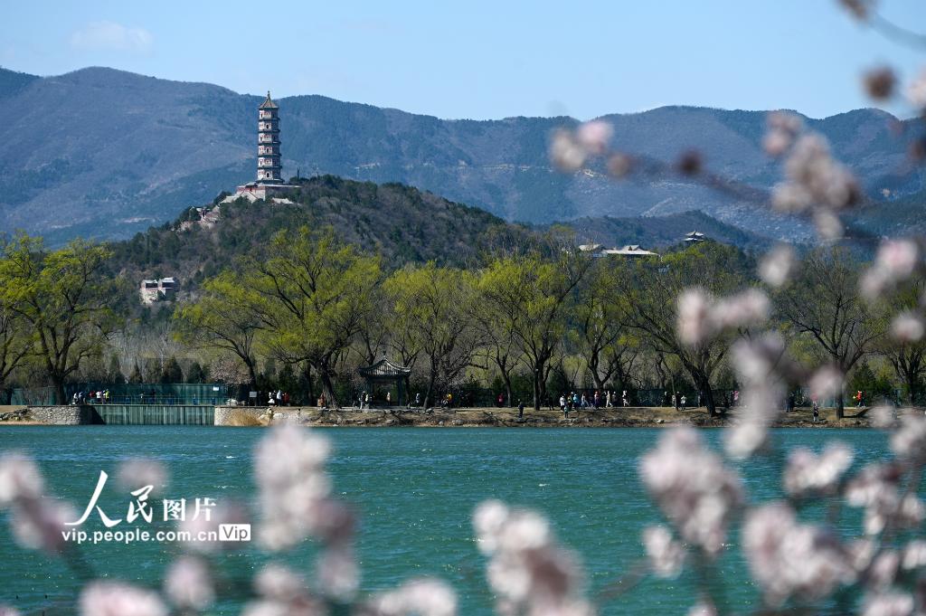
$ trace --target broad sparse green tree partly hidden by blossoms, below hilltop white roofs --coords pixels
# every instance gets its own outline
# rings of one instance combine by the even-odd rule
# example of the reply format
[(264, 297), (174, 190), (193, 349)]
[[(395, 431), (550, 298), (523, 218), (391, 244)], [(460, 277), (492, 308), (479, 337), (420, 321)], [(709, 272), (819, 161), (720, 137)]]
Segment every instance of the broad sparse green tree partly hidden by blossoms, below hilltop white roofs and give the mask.
[(685, 345), (676, 333), (678, 297), (701, 287), (710, 295), (731, 295), (746, 283), (749, 264), (737, 248), (704, 242), (666, 255), (662, 260), (638, 259), (619, 286), (625, 323), (658, 354), (679, 359), (711, 415), (717, 412), (713, 380), (730, 346), (731, 334)]

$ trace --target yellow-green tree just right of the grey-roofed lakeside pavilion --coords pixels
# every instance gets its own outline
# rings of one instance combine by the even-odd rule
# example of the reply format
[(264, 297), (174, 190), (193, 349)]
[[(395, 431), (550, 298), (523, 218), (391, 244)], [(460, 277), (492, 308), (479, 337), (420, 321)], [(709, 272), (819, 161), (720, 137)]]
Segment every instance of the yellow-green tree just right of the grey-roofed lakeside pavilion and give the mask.
[(464, 270), (439, 268), (433, 261), (396, 271), (385, 283), (393, 304), (394, 328), (409, 334), (427, 361), (425, 409), (472, 365), (479, 345), (469, 307), (474, 301), (473, 276)]

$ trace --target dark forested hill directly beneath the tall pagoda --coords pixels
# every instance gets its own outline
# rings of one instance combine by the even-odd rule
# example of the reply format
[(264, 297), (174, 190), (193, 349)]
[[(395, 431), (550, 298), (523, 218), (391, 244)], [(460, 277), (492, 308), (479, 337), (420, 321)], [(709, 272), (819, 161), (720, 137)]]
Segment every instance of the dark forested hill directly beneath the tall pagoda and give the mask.
[(429, 260), (462, 267), (481, 252), (534, 237), (482, 209), (402, 184), (334, 176), (296, 182), (286, 194), (292, 203), (239, 199), (219, 206), (214, 226), (181, 230), (184, 220), (199, 218), (194, 208), (184, 210), (177, 220), (113, 243), (114, 265), (131, 280), (177, 276), (190, 290), (238, 259), (260, 255), (275, 233), (301, 226), (331, 227), (345, 242), (381, 256), (389, 269)]

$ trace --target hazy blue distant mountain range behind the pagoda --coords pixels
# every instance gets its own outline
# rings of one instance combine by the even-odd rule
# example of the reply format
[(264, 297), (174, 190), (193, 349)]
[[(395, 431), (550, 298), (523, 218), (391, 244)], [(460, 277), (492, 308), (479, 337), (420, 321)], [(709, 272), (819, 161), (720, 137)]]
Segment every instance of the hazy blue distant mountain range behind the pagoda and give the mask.
[[(0, 69), (0, 229), (22, 228), (56, 243), (76, 235), (127, 237), (172, 220), (182, 208), (254, 178), (260, 100), (114, 69), (42, 78)], [(559, 173), (549, 163), (548, 140), (575, 119), (447, 120), (317, 95), (277, 102), (285, 177), (300, 170), (404, 182), (505, 220), (592, 219), (577, 223), (590, 233), (613, 227), (596, 221), (602, 217), (700, 210), (766, 238), (807, 234), (799, 221), (670, 171), (619, 182), (594, 167)], [(604, 119), (623, 151), (671, 164), (696, 148), (706, 170), (768, 191), (781, 170), (760, 147), (765, 116), (660, 107)], [(918, 134), (914, 120), (858, 109), (806, 121), (862, 179), (871, 211), (879, 212), (866, 224), (877, 232), (880, 220), (926, 218), (923, 172), (906, 156)]]

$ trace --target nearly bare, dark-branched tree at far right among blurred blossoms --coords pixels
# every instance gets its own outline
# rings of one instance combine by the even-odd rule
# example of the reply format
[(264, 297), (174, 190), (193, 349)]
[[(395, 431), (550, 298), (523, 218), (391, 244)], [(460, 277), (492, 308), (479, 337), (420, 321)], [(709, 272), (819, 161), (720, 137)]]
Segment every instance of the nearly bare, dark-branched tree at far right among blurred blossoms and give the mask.
[[(820, 355), (843, 374), (874, 352), (884, 319), (858, 292), (858, 263), (841, 247), (807, 255), (795, 279), (777, 297), (776, 308), (788, 327), (816, 342)], [(836, 396), (836, 417), (845, 414), (844, 393)]]

